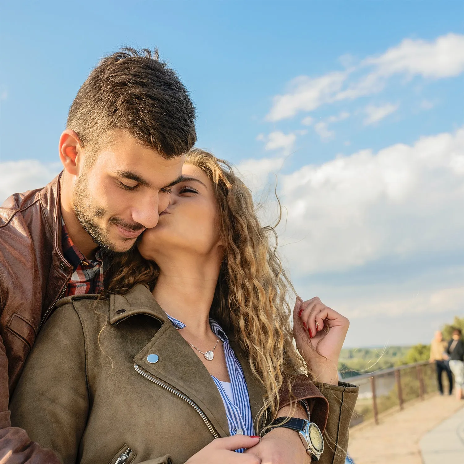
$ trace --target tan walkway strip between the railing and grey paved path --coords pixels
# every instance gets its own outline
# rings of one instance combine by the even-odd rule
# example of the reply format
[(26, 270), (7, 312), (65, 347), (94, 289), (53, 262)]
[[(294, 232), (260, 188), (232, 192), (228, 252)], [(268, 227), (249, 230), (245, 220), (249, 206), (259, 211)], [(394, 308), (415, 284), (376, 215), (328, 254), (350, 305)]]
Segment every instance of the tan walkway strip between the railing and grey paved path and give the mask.
[[(434, 394), (424, 401), (414, 400), (404, 406), (403, 411), (396, 409), (380, 415), (379, 425), (367, 421), (351, 429), (348, 452), (356, 464), (423, 464), (420, 440), (460, 410), (464, 401), (458, 402), (454, 395)], [(431, 463), (435, 462), (455, 461)]]

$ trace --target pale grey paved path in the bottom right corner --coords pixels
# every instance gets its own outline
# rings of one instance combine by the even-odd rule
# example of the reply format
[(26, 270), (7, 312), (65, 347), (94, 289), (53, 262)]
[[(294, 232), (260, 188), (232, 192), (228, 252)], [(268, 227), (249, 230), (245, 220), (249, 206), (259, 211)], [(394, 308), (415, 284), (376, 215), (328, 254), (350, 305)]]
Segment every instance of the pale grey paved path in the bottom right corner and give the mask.
[(419, 446), (424, 464), (464, 463), (464, 408), (426, 433)]

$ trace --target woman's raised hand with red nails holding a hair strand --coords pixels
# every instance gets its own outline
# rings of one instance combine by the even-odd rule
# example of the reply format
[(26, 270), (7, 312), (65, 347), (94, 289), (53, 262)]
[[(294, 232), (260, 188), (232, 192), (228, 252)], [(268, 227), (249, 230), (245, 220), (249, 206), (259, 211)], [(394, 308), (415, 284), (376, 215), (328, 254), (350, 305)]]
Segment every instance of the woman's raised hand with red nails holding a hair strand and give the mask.
[(348, 327), (348, 319), (326, 306), (317, 296), (307, 301), (299, 296), (296, 298), (293, 335), (315, 380), (338, 384), (338, 358)]

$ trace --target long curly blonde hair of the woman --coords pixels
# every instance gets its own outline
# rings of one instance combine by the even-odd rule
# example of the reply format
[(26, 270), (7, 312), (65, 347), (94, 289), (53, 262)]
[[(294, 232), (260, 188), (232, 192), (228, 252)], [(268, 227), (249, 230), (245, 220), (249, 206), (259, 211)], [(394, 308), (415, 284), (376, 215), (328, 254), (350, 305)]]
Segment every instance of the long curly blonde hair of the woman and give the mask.
[[(192, 148), (185, 162), (205, 172), (213, 185), (225, 256), (210, 316), (234, 335), (265, 388), (256, 421), (262, 431), (277, 417), (280, 388), (286, 387), (295, 405), (293, 380), (307, 371), (292, 342), (288, 294), (293, 287), (277, 257), (275, 226), (260, 225), (251, 192), (231, 165), (199, 148)], [(105, 271), (106, 292), (123, 294), (135, 284), (153, 290), (159, 271), (135, 249), (115, 258)]]

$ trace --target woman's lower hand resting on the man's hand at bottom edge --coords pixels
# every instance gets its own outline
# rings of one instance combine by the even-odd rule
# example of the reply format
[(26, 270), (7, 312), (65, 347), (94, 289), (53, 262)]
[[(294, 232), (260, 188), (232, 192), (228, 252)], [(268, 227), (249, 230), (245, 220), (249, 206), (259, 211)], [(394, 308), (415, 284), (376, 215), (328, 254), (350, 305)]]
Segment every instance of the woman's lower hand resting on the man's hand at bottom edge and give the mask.
[(261, 464), (253, 454), (236, 453), (240, 448), (251, 448), (259, 443), (259, 437), (233, 435), (216, 438), (195, 453), (185, 464)]

